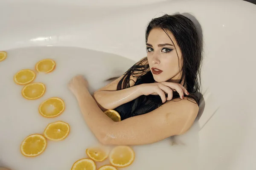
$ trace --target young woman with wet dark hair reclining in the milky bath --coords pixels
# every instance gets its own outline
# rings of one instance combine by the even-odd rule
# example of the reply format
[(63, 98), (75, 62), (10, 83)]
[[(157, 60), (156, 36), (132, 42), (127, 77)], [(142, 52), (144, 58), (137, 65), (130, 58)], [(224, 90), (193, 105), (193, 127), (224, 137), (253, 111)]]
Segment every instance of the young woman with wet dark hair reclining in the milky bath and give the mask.
[[(69, 82), (87, 125), (103, 144), (149, 144), (185, 133), (198, 114), (202, 41), (180, 14), (146, 28), (147, 57), (104, 88), (87, 90), (81, 75)], [(114, 122), (103, 111), (117, 111)]]

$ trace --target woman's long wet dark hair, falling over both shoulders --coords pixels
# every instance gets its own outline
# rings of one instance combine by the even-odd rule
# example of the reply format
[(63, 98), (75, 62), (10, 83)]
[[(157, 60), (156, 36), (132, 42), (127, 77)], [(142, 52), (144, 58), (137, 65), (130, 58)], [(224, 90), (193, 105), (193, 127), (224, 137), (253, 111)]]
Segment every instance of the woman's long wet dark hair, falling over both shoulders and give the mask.
[[(175, 37), (177, 45), (181, 50), (183, 59), (183, 66), (181, 68), (182, 76), (180, 82), (184, 79), (183, 86), (185, 86), (187, 91), (189, 91), (189, 95), (187, 96), (188, 99), (194, 99), (199, 105), (199, 100), (201, 97), (200, 72), (201, 61), (203, 58), (203, 44), (195, 24), (189, 18), (181, 14), (165, 14), (162, 17), (154, 18), (148, 23), (146, 28), (146, 42), (148, 41), (150, 31), (154, 28), (161, 28), (166, 34), (167, 30), (171, 31), (172, 35)], [(143, 83), (154, 82), (153, 75), (148, 65), (147, 57), (134, 64), (130, 69), (128, 69), (128, 71), (125, 72), (124, 77), (122, 77), (122, 79), (118, 82), (117, 90), (129, 88), (130, 81), (132, 80), (131, 77), (134, 79), (140, 79)], [(175, 91), (172, 99), (179, 97), (179, 94)]]

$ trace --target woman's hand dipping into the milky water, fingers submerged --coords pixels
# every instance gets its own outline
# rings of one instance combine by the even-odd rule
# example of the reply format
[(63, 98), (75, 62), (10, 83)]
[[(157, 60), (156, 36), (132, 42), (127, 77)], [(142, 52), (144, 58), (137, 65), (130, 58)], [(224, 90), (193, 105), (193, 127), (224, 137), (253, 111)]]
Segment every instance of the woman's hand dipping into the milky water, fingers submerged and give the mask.
[(70, 91), (77, 96), (81, 91), (87, 90), (88, 82), (82, 75), (73, 77), (68, 83)]

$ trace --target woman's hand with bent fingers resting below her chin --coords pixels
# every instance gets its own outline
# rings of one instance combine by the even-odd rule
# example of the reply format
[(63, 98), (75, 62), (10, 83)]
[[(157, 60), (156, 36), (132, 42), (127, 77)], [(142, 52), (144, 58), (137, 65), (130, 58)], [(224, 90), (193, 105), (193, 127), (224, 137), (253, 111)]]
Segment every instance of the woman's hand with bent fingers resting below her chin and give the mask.
[(168, 94), (167, 100), (172, 100), (173, 91), (177, 91), (180, 94), (180, 99), (184, 99), (184, 94), (189, 95), (189, 92), (182, 85), (174, 82), (145, 83), (140, 86), (140, 92), (143, 95), (159, 95), (163, 103), (166, 102), (166, 95), (164, 92)]

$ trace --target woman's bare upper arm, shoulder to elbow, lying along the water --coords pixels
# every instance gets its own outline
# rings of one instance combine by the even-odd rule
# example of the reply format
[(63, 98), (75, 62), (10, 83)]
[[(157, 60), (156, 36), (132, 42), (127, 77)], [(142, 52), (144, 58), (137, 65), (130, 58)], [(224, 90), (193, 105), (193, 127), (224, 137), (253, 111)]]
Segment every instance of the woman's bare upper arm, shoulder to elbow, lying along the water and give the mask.
[(187, 98), (167, 102), (149, 113), (114, 122), (105, 129), (104, 144), (138, 145), (185, 133), (198, 114), (198, 105)]

